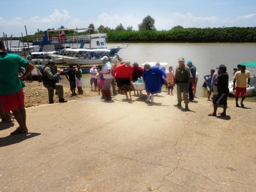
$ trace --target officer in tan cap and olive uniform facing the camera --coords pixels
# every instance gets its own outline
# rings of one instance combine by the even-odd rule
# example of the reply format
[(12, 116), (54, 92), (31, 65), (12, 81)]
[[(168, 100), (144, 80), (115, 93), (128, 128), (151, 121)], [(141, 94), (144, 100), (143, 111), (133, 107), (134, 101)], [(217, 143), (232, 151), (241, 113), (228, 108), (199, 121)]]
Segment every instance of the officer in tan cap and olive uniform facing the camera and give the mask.
[(175, 105), (176, 107), (181, 107), (182, 97), (181, 94), (183, 92), (184, 95), (184, 102), (186, 111), (189, 111), (189, 100), (188, 100), (188, 93), (189, 93), (189, 81), (193, 82), (193, 76), (190, 73), (189, 67), (185, 65), (185, 59), (183, 57), (178, 58), (179, 65), (176, 68), (175, 72), (175, 83), (177, 84), (177, 99), (178, 104)]

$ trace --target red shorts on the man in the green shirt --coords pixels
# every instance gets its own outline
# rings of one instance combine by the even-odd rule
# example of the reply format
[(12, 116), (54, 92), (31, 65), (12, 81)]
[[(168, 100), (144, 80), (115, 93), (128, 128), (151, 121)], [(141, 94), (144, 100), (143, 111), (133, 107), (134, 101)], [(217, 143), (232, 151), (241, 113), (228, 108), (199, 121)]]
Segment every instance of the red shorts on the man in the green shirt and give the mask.
[(23, 90), (11, 95), (0, 95), (0, 101), (2, 102), (4, 111), (12, 111), (25, 107)]

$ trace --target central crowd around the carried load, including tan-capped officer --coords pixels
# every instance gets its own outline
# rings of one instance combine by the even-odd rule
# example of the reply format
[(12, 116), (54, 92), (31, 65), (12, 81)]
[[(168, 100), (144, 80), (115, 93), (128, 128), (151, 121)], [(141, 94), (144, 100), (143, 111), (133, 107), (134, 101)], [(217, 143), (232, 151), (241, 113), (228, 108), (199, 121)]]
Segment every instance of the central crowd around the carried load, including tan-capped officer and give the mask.
[[(112, 65), (107, 56), (102, 58), (102, 69), (96, 74), (99, 87), (102, 87), (102, 99), (111, 100), (111, 83), (116, 81), (119, 91), (122, 90), (126, 96), (126, 99), (131, 99), (131, 90), (136, 90), (133, 87), (133, 83), (142, 78), (145, 82), (145, 90), (147, 92), (146, 102), (154, 101), (154, 94), (161, 93), (163, 84), (166, 83), (168, 94), (173, 95), (173, 89), (177, 85), (177, 107), (181, 107), (182, 93), (185, 102), (185, 109), (188, 111), (189, 100), (194, 99), (195, 87), (197, 83), (196, 67), (192, 64), (192, 61), (187, 61), (185, 65), (184, 58), (179, 58), (179, 66), (176, 68), (175, 74), (173, 67), (169, 67), (169, 70), (165, 70), (157, 62), (155, 66), (145, 64), (142, 69), (139, 64), (134, 63), (131, 66), (129, 60), (122, 62), (119, 66)], [(91, 71), (91, 75), (95, 75)], [(94, 78), (94, 77), (93, 77)], [(101, 81), (104, 81), (100, 83)], [(91, 83), (94, 80), (91, 80)], [(102, 84), (102, 86), (100, 86)], [(95, 83), (94, 83), (95, 85)], [(116, 94), (115, 85), (113, 87), (113, 94)], [(93, 87), (91, 87), (93, 89)], [(96, 88), (95, 88), (96, 89)], [(128, 96), (129, 93), (129, 96)], [(137, 91), (137, 94), (139, 92)], [(140, 92), (141, 94), (141, 92)], [(130, 98), (129, 98), (130, 97)]]

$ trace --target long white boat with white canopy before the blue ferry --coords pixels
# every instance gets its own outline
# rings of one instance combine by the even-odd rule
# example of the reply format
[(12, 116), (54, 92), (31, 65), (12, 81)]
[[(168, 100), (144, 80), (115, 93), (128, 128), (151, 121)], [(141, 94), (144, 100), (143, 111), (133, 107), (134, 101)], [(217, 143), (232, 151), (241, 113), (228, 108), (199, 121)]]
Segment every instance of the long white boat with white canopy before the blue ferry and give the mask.
[[(108, 56), (110, 49), (63, 49), (59, 55), (48, 54), (52, 59), (63, 59), (64, 64), (93, 65), (102, 64), (103, 56)], [(110, 57), (111, 62), (117, 62), (118, 57)]]

